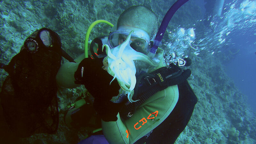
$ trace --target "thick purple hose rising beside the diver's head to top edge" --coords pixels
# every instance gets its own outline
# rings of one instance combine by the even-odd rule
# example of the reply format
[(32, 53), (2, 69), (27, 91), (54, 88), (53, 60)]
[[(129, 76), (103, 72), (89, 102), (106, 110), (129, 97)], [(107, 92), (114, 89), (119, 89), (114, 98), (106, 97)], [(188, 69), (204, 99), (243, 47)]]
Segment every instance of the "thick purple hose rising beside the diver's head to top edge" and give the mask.
[(175, 2), (172, 7), (168, 10), (168, 12), (166, 12), (164, 19), (162, 20), (162, 23), (158, 29), (158, 32), (156, 34), (156, 38), (154, 40), (153, 46), (150, 49), (151, 53), (156, 53), (156, 50), (164, 36), (164, 32), (170, 22), (170, 20), (172, 19), (173, 14), (186, 2), (188, 2), (188, 0), (178, 0), (177, 2)]

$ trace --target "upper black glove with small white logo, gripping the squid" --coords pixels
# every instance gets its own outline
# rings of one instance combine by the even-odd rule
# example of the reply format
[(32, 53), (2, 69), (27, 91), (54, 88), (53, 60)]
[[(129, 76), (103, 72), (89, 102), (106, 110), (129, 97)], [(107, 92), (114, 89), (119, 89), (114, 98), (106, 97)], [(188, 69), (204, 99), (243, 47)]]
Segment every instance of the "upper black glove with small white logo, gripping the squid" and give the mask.
[(111, 100), (113, 96), (118, 95), (120, 86), (116, 79), (109, 85), (113, 76), (101, 68), (102, 60), (103, 58), (82, 60), (75, 72), (75, 83), (84, 84), (94, 98)]

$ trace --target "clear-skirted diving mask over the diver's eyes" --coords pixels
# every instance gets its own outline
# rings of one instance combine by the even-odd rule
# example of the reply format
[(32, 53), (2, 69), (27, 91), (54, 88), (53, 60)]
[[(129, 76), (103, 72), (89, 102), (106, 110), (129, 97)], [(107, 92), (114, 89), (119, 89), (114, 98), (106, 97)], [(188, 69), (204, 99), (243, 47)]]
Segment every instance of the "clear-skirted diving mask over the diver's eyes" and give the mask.
[(147, 55), (150, 49), (149, 36), (147, 32), (139, 28), (120, 26), (118, 30), (111, 32), (108, 36), (108, 44), (110, 46), (110, 49), (122, 44), (131, 31), (134, 32), (131, 35), (130, 46), (135, 51)]

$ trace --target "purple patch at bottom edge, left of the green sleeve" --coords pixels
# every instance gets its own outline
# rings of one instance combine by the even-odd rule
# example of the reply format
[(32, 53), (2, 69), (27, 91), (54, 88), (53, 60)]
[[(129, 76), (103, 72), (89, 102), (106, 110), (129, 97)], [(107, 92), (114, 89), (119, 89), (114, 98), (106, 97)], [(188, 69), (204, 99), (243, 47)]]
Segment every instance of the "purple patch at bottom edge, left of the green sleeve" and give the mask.
[(78, 144), (109, 144), (104, 135), (92, 135)]

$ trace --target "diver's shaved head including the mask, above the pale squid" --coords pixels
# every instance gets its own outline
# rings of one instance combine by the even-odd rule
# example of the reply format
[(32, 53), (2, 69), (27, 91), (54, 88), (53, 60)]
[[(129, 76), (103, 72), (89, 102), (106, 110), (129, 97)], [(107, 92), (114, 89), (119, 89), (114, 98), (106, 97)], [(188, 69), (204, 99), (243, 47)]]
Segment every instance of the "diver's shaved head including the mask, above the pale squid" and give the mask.
[(156, 34), (157, 18), (154, 12), (144, 6), (132, 6), (125, 10), (117, 21), (117, 30), (108, 37), (111, 48), (124, 42), (133, 31), (130, 46), (137, 52), (147, 55), (150, 49), (150, 40)]

